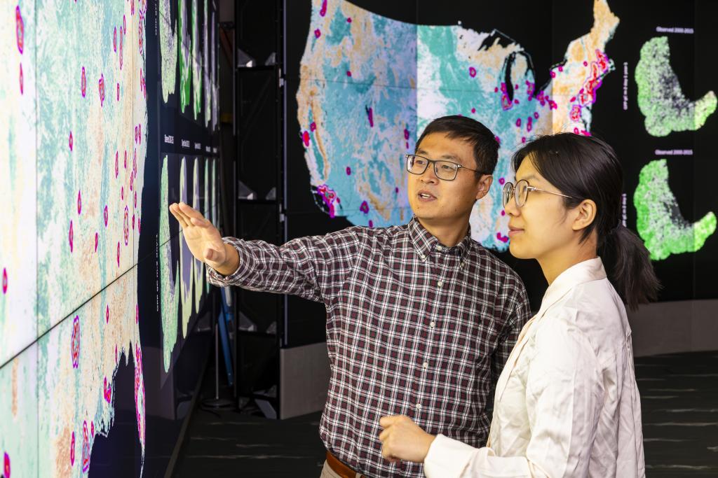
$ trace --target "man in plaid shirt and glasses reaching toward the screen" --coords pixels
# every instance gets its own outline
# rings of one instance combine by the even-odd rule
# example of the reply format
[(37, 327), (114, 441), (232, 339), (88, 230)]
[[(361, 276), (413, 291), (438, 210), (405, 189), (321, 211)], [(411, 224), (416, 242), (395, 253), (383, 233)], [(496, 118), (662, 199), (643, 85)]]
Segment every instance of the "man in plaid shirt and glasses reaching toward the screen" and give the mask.
[(420, 464), (382, 458), (384, 415), (485, 443), (487, 400), (529, 315), (521, 279), (470, 236), (472, 208), (497, 159), (498, 143), (481, 123), (434, 120), (406, 157), (409, 224), (282, 246), (222, 238), (190, 206), (170, 206), (213, 284), (325, 303), (331, 379), (322, 477), (422, 477)]

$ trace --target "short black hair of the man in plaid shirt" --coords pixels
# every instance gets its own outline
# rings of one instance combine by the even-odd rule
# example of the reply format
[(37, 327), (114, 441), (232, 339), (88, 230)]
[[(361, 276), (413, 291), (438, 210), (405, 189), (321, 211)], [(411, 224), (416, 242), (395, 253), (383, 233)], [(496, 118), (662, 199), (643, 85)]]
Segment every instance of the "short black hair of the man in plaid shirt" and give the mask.
[(421, 140), (432, 133), (444, 133), (452, 139), (467, 140), (474, 147), (474, 161), (479, 171), (476, 176), (493, 174), (498, 161), (498, 140), (489, 128), (466, 116), (442, 116), (426, 125), (419, 140), (416, 141), (416, 148), (419, 149)]

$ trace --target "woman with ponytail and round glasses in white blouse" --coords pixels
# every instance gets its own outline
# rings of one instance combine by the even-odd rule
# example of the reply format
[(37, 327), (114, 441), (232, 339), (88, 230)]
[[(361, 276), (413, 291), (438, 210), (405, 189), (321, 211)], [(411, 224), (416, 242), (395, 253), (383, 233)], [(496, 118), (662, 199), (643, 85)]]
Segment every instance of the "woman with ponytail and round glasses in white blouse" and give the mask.
[(655, 299), (658, 279), (640, 239), (620, 224), (620, 163), (602, 140), (561, 133), (523, 146), (513, 167), (516, 186), (503, 194), (510, 252), (538, 260), (549, 289), (496, 385), (487, 446), (386, 416), (384, 457), (424, 462), (429, 478), (643, 477), (623, 303)]

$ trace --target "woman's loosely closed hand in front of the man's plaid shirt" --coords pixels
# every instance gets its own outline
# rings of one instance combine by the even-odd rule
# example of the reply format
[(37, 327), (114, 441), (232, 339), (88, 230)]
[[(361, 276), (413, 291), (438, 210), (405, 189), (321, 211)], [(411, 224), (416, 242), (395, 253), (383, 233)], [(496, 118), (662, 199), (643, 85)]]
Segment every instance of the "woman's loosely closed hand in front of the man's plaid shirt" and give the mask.
[(381, 454), (390, 462), (406, 460), (423, 463), (429, 446), (436, 436), (426, 433), (408, 416), (383, 416), (379, 424), (384, 431), (379, 434), (382, 442)]

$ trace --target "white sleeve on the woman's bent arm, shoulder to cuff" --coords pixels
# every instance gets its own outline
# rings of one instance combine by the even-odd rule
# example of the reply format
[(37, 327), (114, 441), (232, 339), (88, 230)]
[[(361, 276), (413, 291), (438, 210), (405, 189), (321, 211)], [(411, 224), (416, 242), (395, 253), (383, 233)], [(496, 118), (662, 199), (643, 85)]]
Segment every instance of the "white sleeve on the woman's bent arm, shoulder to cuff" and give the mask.
[(526, 376), (526, 456), (497, 457), (439, 435), (424, 460), (427, 478), (586, 476), (603, 403), (600, 367), (579, 330), (545, 318)]

